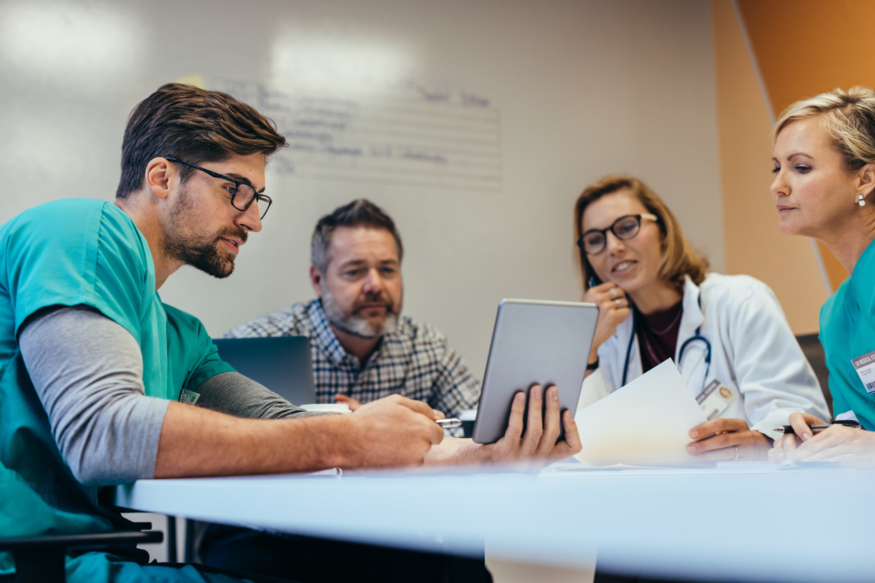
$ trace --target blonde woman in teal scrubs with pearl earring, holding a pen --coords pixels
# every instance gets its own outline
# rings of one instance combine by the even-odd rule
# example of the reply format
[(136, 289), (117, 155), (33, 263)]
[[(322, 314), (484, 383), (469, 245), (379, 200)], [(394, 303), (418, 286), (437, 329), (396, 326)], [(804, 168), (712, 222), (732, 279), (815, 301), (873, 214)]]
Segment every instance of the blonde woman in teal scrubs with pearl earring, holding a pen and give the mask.
[(775, 123), (772, 162), (781, 233), (821, 241), (849, 275), (823, 304), (820, 338), (836, 419), (868, 431), (834, 426), (814, 434), (809, 425), (825, 418), (792, 415), (798, 440), (785, 436), (770, 455), (872, 467), (875, 378), (866, 362), (875, 351), (875, 92), (836, 89), (791, 105)]

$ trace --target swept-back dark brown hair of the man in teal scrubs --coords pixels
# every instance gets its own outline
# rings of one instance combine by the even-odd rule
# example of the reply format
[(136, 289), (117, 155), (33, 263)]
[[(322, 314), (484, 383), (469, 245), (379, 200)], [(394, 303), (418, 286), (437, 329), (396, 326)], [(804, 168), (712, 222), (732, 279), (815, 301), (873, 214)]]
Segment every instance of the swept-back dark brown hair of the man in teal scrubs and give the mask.
[[(286, 145), (273, 121), (231, 95), (168, 83), (130, 112), (116, 198), (140, 190), (146, 165), (155, 157), (221, 162), (233, 154), (270, 156)], [(183, 165), (180, 171), (185, 181), (193, 168)]]

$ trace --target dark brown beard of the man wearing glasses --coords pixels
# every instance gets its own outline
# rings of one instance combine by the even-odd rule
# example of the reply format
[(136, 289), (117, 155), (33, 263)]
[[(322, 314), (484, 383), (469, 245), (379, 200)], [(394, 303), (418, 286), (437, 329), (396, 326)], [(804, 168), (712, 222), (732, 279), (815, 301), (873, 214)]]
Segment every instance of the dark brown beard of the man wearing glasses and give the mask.
[(193, 223), (197, 221), (196, 215), (188, 189), (183, 189), (170, 213), (172, 229), (170, 233), (166, 233), (164, 252), (205, 274), (224, 279), (234, 273), (235, 254), (222, 248), (221, 239), (240, 239), (242, 244), (246, 242), (248, 233), (242, 229), (229, 228), (224, 228), (215, 235), (191, 233)]

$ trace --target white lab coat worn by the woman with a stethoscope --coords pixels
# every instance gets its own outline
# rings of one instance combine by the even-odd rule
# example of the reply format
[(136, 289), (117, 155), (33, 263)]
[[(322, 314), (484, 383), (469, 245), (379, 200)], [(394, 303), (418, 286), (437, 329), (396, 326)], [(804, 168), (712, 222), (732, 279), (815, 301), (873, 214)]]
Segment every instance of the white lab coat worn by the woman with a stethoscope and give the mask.
[[(678, 368), (694, 397), (714, 379), (741, 395), (721, 417), (746, 420), (751, 429), (773, 439), (780, 436), (774, 428), (787, 425), (790, 413), (812, 413), (829, 419), (815, 373), (796, 342), (781, 305), (765, 283), (747, 275), (709, 274), (697, 286), (688, 277), (683, 287), (683, 316), (675, 363), (683, 343), (696, 335), (699, 326), (701, 336), (711, 343), (707, 377), (706, 348), (700, 340), (684, 350)], [(633, 332), (629, 316), (617, 327), (616, 334), (598, 347), (598, 369), (584, 380), (578, 411), (620, 388)], [(641, 373), (636, 335), (626, 382)]]

